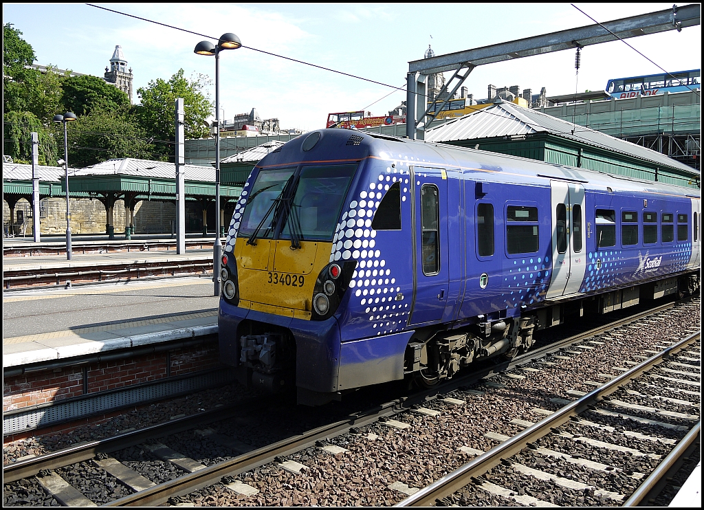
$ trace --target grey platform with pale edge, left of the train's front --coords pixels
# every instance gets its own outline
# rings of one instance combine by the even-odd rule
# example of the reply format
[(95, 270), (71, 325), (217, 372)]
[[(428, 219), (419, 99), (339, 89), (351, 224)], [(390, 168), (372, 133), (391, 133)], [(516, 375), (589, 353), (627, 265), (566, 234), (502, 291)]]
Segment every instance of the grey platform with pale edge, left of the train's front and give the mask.
[(6, 292), (3, 367), (217, 333), (218, 299), (211, 276)]

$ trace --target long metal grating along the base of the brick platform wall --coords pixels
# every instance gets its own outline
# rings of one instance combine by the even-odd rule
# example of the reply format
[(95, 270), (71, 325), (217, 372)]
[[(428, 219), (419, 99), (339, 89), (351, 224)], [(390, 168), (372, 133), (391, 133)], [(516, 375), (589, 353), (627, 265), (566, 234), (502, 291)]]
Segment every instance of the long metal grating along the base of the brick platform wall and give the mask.
[(151, 400), (172, 397), (181, 393), (205, 390), (206, 388), (232, 381), (234, 381), (233, 371), (231, 369), (221, 369), (176, 380), (155, 381), (145, 385), (138, 385), (134, 388), (114, 390), (110, 393), (95, 395), (94, 397), (79, 397), (78, 399), (59, 401), (49, 406), (42, 405), (18, 409), (17, 411), (3, 414), (3, 435), (86, 418), (94, 414), (114, 411), (120, 407), (145, 404)]

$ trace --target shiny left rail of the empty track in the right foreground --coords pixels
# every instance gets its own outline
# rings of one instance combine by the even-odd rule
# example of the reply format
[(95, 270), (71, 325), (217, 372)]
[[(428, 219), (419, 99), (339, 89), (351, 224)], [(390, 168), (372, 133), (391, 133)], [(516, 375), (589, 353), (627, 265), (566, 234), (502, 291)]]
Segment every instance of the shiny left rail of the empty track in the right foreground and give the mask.
[(547, 416), (545, 419), (535, 423), (521, 433), (514, 435), (513, 438), (505, 440), (501, 443), (501, 445), (492, 448), (488, 452), (484, 452), (479, 455), (479, 457), (472, 459), (472, 461), (468, 462), (464, 466), (455, 469), (452, 473), (436, 480), (434, 483), (422, 488), (414, 495), (403, 499), (403, 501), (398, 502), (398, 504), (394, 506), (430, 506), (434, 504), (437, 499), (453, 494), (462, 487), (465, 487), (465, 485), (471, 483), (472, 478), (482, 476), (484, 473), (489, 471), (489, 469), (494, 466), (498, 466), (503, 459), (513, 457), (513, 455), (523, 450), (529, 442), (534, 442), (540, 438), (543, 438), (551, 431), (552, 428), (559, 427), (564, 423), (567, 423), (572, 416), (586, 411), (593, 404), (600, 402), (604, 399), (604, 397), (614, 393), (618, 388), (620, 388), (620, 386), (628, 383), (631, 379), (640, 376), (644, 371), (652, 368), (656, 364), (659, 364), (666, 357), (669, 357), (675, 352), (685, 348), (687, 345), (693, 343), (697, 338), (700, 338), (700, 336), (701, 332), (697, 332), (683, 338), (674, 345), (671, 345), (669, 348), (649, 357), (646, 361), (637, 364), (629, 371), (613, 378), (611, 381), (605, 383), (599, 388), (592, 390), (584, 395), (584, 397), (567, 404), (557, 412)]

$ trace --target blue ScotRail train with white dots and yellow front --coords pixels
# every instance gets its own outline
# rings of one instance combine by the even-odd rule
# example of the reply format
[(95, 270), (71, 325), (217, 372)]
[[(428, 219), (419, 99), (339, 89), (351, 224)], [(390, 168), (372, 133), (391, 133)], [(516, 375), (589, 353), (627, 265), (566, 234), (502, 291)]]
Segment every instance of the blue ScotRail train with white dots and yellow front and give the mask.
[(695, 189), (315, 131), (244, 185), (220, 359), (310, 405), (403, 378), (434, 385), (570, 317), (698, 292), (700, 211)]

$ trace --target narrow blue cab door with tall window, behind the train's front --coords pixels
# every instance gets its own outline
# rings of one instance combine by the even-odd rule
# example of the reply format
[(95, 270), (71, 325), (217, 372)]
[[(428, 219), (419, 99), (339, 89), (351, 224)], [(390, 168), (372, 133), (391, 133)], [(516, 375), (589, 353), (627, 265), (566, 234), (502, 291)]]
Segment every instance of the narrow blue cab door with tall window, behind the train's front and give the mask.
[(410, 174), (413, 300), (408, 324), (423, 324), (441, 320), (447, 302), (447, 173), (438, 168), (411, 167)]

